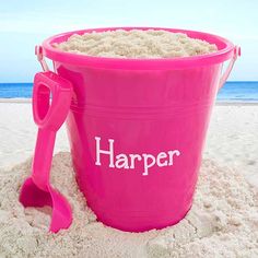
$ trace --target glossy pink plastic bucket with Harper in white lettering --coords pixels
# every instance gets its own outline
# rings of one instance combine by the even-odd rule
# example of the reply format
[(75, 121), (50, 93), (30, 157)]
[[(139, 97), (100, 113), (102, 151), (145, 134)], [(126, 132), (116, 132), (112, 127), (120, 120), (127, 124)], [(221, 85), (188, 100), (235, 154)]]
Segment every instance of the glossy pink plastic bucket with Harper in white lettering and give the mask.
[(106, 225), (143, 232), (173, 225), (191, 208), (212, 106), (239, 48), (215, 35), (171, 28), (162, 30), (204, 39), (219, 51), (118, 59), (52, 47), (74, 33), (117, 28), (60, 34), (45, 40), (37, 55), (45, 70), (44, 56), (72, 84), (67, 129), (89, 207)]

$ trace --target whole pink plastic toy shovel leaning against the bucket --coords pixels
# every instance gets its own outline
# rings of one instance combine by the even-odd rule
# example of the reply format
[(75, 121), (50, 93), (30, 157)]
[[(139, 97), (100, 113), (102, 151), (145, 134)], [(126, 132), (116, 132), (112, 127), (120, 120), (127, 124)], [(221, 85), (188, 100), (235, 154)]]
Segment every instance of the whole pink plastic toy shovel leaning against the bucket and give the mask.
[(38, 133), (32, 176), (22, 186), (20, 201), (24, 207), (51, 207), (49, 230), (55, 233), (69, 227), (72, 222), (70, 204), (61, 194), (51, 187), (49, 181), (56, 132), (66, 120), (71, 95), (71, 83), (59, 75), (50, 71), (35, 75), (33, 117), (38, 126)]

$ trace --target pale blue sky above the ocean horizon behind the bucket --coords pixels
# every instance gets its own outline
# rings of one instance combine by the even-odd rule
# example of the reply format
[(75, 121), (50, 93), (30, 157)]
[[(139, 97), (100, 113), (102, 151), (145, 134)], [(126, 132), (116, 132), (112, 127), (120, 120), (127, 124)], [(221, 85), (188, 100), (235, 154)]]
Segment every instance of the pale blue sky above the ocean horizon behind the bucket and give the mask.
[(0, 0), (0, 82), (32, 82), (34, 46), (61, 32), (164, 26), (214, 33), (242, 47), (230, 80), (258, 81), (258, 1)]

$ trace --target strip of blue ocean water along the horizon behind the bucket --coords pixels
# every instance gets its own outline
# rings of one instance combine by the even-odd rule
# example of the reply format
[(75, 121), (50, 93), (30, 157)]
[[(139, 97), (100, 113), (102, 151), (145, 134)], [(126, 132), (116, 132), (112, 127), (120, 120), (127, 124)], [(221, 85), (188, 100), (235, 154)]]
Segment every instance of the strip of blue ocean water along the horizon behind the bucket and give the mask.
[[(32, 83), (0, 83), (0, 98), (30, 98)], [(218, 102), (258, 102), (257, 82), (226, 82), (220, 90)]]

